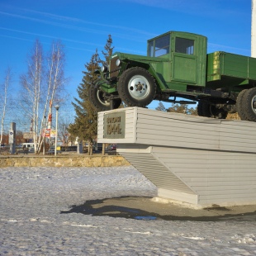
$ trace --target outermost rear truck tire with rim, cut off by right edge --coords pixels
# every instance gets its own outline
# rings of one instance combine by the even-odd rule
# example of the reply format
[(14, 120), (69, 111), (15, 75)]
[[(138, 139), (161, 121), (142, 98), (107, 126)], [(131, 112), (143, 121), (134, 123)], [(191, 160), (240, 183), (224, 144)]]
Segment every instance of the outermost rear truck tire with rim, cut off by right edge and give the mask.
[(244, 94), (244, 111), (248, 121), (256, 121), (256, 88), (247, 90)]

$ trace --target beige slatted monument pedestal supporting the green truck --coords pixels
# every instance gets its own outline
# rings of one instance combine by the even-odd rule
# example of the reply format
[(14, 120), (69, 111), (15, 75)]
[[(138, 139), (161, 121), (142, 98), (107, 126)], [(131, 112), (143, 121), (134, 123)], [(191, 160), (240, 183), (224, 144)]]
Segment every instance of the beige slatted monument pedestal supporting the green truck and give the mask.
[(129, 107), (98, 113), (98, 141), (158, 187), (200, 208), (256, 204), (256, 123)]

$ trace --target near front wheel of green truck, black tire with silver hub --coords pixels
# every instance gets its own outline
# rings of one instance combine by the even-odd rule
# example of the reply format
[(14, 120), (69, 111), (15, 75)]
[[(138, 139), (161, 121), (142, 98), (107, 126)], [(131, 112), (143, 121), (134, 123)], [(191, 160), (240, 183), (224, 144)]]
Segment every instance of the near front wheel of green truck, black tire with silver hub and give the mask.
[(135, 67), (121, 74), (117, 90), (128, 107), (146, 107), (154, 100), (156, 83), (146, 69)]

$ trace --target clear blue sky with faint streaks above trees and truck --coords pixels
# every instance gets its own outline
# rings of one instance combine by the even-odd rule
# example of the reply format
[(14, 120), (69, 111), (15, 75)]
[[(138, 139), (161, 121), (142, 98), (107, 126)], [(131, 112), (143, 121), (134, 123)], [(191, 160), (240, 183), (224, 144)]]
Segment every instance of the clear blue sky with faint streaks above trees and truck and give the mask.
[[(137, 55), (146, 55), (147, 40), (167, 31), (207, 36), (208, 52), (250, 55), (250, 29), (251, 0), (0, 0), (0, 83), (11, 67), (12, 92), (18, 92), (36, 39), (45, 51), (53, 40), (65, 45), (71, 102), (84, 64), (103, 50), (109, 34), (114, 51)], [(73, 116), (71, 103), (65, 111)]]

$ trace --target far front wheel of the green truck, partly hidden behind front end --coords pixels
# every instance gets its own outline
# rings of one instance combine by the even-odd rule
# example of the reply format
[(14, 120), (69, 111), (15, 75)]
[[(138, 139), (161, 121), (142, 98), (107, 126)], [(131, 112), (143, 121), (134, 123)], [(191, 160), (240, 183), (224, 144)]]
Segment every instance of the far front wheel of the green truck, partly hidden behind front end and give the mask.
[[(94, 86), (91, 86), (89, 88), (89, 100), (90, 102), (92, 102), (92, 105), (98, 111), (107, 111), (111, 109), (110, 102), (107, 101), (106, 98), (104, 98), (104, 92), (95, 88)], [(120, 107), (120, 105), (121, 105), (121, 98), (113, 99), (114, 109)]]

